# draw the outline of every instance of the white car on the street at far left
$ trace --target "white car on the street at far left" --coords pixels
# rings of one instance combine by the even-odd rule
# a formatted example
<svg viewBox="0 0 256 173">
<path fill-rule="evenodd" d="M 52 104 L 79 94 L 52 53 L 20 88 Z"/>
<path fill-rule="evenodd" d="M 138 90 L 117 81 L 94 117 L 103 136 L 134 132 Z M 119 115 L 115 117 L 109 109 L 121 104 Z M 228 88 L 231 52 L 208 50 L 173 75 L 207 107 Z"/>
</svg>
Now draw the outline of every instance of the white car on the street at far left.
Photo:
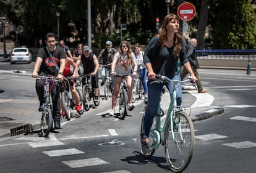
<svg viewBox="0 0 256 173">
<path fill-rule="evenodd" d="M 11 64 L 15 62 L 32 62 L 32 55 L 27 47 L 15 47 L 11 52 Z"/>
</svg>

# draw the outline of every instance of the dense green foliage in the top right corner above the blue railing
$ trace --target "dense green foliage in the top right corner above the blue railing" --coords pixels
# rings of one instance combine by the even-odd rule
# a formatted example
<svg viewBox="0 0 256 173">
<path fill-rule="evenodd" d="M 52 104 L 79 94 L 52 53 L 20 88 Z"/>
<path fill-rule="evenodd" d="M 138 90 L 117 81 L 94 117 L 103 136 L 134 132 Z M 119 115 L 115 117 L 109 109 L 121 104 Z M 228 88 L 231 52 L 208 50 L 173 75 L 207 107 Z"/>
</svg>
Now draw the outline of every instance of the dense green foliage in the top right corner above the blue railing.
<svg viewBox="0 0 256 173">
<path fill-rule="evenodd" d="M 209 2 L 215 48 L 255 49 L 255 18 L 250 2 L 246 0 L 209 0 Z"/>
</svg>

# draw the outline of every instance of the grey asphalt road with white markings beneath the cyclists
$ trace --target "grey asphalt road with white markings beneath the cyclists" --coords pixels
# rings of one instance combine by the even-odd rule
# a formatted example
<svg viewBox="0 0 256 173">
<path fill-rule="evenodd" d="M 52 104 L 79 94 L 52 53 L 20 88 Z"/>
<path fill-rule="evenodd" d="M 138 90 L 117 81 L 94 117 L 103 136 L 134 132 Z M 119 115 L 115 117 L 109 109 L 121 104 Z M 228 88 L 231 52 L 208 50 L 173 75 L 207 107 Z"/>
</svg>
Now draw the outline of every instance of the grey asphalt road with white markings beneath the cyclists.
<svg viewBox="0 0 256 173">
<path fill-rule="evenodd" d="M 1 62 L 1 70 L 4 66 L 7 64 Z M 24 65 L 22 70 L 26 69 L 29 68 Z M 184 106 L 196 103 L 193 112 L 198 105 L 210 101 L 208 107 L 223 107 L 224 113 L 194 121 L 194 155 L 184 172 L 255 172 L 256 74 L 254 71 L 250 75 L 235 70 L 199 71 L 208 94 L 186 91 Z M 22 74 L 17 78 L 17 75 L 1 72 L 1 89 L 8 89 L 9 97 L 15 97 L 14 91 L 19 90 L 19 100 L 24 95 L 33 95 L 33 79 Z M 36 100 L 34 96 L 30 99 Z M 0 94 L 0 99 L 7 97 Z M 103 116 L 110 105 L 111 100 L 101 100 L 100 107 L 63 121 L 62 129 L 51 133 L 49 138 L 38 137 L 38 132 L 33 131 L 0 139 L 1 172 L 169 172 L 163 146 L 150 159 L 140 154 L 142 100 L 136 102 L 125 120 Z"/>
</svg>

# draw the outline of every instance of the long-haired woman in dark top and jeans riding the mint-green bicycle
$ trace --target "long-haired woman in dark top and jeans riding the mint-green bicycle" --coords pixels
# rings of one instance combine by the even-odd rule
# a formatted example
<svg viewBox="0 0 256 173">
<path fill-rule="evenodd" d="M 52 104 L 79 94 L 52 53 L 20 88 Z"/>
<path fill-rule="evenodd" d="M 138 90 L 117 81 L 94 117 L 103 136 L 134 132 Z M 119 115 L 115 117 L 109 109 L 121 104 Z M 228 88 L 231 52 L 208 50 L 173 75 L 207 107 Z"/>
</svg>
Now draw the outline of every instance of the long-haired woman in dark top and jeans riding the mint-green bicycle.
<svg viewBox="0 0 256 173">
<path fill-rule="evenodd" d="M 162 74 L 170 79 L 181 80 L 177 71 L 177 62 L 180 60 L 184 67 L 193 77 L 193 82 L 197 81 L 195 74 L 187 59 L 185 42 L 179 31 L 179 17 L 168 14 L 164 17 L 159 33 L 148 43 L 147 49 L 143 54 L 143 60 L 148 70 L 148 107 L 145 110 L 145 120 L 143 124 L 143 155 L 150 155 L 148 147 L 148 135 L 153 118 L 156 115 L 160 103 L 161 90 L 163 85 L 167 85 L 170 94 L 173 93 L 173 82 L 151 83 L 156 78 L 156 74 Z M 182 92 L 181 84 L 177 89 L 177 105 L 181 105 Z"/>
</svg>

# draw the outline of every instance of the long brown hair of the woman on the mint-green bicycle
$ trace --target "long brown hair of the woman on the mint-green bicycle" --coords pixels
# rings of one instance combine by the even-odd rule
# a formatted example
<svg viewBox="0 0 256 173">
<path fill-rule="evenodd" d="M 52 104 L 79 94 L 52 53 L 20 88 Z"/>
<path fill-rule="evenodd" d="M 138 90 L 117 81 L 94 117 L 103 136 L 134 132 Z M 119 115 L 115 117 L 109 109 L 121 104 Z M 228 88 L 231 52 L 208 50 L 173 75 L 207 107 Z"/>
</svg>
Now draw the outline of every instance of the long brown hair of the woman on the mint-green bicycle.
<svg viewBox="0 0 256 173">
<path fill-rule="evenodd" d="M 161 28 L 158 33 L 159 42 L 162 47 L 164 46 L 164 41 L 167 40 L 166 25 L 168 25 L 169 22 L 171 22 L 171 20 L 173 20 L 173 19 L 179 21 L 179 17 L 177 17 L 177 15 L 175 15 L 175 14 L 168 14 L 163 19 L 163 23 L 162 23 Z M 181 36 L 181 31 L 179 31 L 178 33 L 175 33 L 175 35 L 174 35 L 174 49 L 173 49 L 174 57 L 178 57 L 179 52 L 181 52 L 181 49 L 182 49 L 181 42 L 182 42 L 182 36 Z"/>
</svg>

